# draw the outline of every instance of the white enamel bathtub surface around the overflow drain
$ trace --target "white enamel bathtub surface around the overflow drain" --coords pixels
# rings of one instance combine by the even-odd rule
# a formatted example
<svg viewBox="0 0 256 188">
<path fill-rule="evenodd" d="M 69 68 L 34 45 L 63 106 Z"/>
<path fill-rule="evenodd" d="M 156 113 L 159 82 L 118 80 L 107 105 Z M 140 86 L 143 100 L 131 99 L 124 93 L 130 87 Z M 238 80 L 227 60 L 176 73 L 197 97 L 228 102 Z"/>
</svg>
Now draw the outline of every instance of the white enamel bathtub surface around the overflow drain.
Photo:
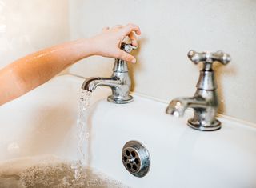
<svg viewBox="0 0 256 188">
<path fill-rule="evenodd" d="M 55 154 L 76 156 L 76 118 L 83 79 L 62 76 L 0 107 L 0 161 Z M 222 129 L 200 132 L 184 118 L 165 114 L 166 103 L 134 95 L 134 102 L 106 102 L 98 87 L 90 108 L 90 166 L 131 187 L 255 187 L 256 129 L 219 118 Z M 135 178 L 122 166 L 122 146 L 138 140 L 151 167 Z"/>
</svg>

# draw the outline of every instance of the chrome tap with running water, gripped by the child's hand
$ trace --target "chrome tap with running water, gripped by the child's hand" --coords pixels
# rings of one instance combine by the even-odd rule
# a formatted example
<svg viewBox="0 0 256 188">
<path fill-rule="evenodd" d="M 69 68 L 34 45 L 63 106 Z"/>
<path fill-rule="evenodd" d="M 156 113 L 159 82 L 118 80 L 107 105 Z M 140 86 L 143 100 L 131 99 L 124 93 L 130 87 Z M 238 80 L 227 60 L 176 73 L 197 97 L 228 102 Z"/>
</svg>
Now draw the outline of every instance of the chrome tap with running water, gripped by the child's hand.
<svg viewBox="0 0 256 188">
<path fill-rule="evenodd" d="M 130 53 L 131 50 L 136 49 L 130 44 L 122 43 L 121 49 Z M 109 86 L 112 90 L 107 100 L 117 104 L 125 104 L 133 101 L 130 93 L 130 76 L 128 73 L 127 62 L 122 59 L 115 58 L 113 74 L 110 78 L 89 78 L 82 84 L 82 89 L 93 92 L 98 86 Z"/>
</svg>

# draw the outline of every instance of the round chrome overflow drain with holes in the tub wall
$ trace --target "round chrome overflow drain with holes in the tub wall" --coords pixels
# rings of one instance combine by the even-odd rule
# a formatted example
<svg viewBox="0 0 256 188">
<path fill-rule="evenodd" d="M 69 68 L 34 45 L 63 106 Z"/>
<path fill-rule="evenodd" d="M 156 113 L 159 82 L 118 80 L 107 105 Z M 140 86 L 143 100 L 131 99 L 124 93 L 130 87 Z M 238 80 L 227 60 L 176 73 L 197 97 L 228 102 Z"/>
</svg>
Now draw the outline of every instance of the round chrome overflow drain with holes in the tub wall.
<svg viewBox="0 0 256 188">
<path fill-rule="evenodd" d="M 122 164 L 130 174 L 142 178 L 150 170 L 150 154 L 140 142 L 126 142 L 122 148 Z"/>
</svg>

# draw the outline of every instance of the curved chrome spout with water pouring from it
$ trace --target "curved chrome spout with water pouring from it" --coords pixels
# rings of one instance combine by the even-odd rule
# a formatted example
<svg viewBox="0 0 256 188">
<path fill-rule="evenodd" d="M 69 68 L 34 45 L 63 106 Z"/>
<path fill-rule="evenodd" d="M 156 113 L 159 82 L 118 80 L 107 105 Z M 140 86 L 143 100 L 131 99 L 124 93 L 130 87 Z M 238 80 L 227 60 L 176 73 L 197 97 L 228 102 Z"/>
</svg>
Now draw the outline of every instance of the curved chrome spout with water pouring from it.
<svg viewBox="0 0 256 188">
<path fill-rule="evenodd" d="M 96 87 L 98 86 L 118 86 L 121 84 L 121 81 L 118 78 L 102 78 L 102 77 L 95 77 L 86 79 L 85 82 L 82 84 L 82 89 L 93 92 Z"/>
</svg>

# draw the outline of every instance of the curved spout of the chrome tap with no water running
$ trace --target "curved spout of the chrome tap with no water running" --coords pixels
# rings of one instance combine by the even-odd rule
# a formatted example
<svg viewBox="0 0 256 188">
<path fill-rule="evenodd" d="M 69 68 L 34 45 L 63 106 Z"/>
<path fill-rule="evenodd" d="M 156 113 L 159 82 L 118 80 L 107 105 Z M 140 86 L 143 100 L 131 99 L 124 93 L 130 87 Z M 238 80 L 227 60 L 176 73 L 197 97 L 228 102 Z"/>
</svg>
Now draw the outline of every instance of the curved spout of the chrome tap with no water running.
<svg viewBox="0 0 256 188">
<path fill-rule="evenodd" d="M 176 117 L 182 117 L 187 108 L 206 109 L 208 106 L 206 99 L 202 97 L 193 98 L 175 98 L 166 108 L 166 114 L 171 114 Z"/>
</svg>

